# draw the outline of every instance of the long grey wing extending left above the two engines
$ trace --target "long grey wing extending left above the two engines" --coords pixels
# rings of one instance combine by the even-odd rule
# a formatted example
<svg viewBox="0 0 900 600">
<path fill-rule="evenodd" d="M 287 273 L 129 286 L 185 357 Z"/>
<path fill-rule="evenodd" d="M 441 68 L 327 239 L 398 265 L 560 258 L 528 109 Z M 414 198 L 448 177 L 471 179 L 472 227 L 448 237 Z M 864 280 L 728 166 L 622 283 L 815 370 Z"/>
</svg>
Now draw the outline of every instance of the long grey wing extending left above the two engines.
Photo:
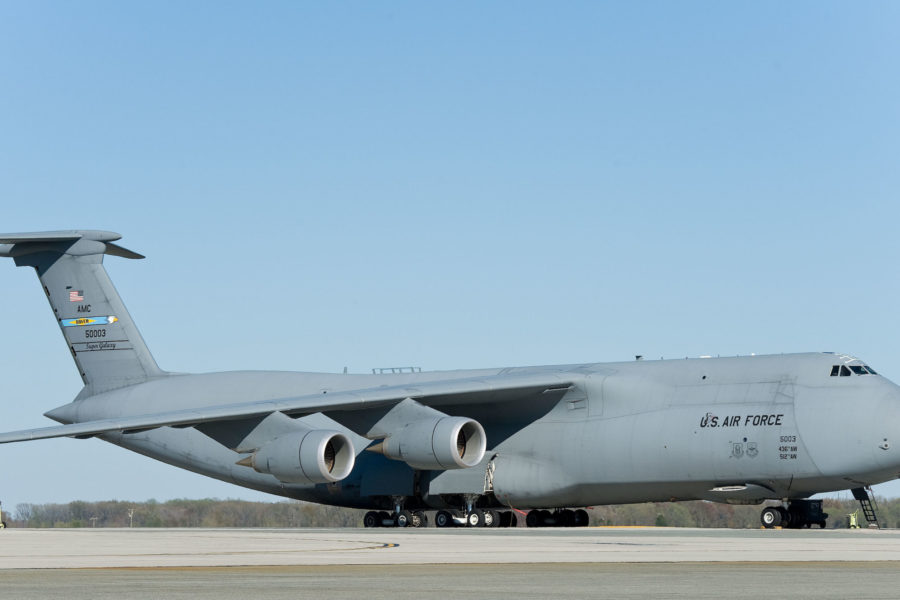
<svg viewBox="0 0 900 600">
<path fill-rule="evenodd" d="M 56 425 L 0 433 L 0 444 L 40 440 L 55 437 L 92 437 L 103 433 L 135 433 L 157 427 L 191 427 L 213 421 L 227 421 L 266 416 L 282 412 L 302 416 L 317 412 L 356 411 L 395 404 L 412 398 L 429 406 L 441 404 L 477 404 L 486 397 L 502 392 L 562 393 L 571 387 L 562 373 L 502 374 L 467 379 L 428 381 L 416 384 L 384 386 L 328 394 L 309 394 L 281 398 L 211 406 L 179 411 L 85 421 L 70 425 Z"/>
</svg>

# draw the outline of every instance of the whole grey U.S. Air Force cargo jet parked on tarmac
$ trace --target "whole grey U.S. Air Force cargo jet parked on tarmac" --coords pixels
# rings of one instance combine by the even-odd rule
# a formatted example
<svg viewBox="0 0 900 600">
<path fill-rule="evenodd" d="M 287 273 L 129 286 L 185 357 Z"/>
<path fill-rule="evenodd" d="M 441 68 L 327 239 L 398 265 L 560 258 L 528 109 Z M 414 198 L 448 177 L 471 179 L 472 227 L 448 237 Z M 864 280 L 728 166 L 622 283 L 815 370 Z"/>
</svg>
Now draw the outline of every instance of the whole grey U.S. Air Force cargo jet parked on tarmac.
<svg viewBox="0 0 900 600">
<path fill-rule="evenodd" d="M 279 496 L 368 508 L 364 524 L 586 525 L 582 507 L 760 504 L 825 526 L 818 492 L 900 476 L 900 387 L 832 353 L 352 375 L 161 370 L 103 267 L 105 231 L 0 235 L 34 267 L 84 388 L 61 425 Z M 853 418 L 849 418 L 850 415 Z M 516 510 L 512 510 L 516 509 Z M 519 514 L 522 514 L 521 512 Z"/>
</svg>

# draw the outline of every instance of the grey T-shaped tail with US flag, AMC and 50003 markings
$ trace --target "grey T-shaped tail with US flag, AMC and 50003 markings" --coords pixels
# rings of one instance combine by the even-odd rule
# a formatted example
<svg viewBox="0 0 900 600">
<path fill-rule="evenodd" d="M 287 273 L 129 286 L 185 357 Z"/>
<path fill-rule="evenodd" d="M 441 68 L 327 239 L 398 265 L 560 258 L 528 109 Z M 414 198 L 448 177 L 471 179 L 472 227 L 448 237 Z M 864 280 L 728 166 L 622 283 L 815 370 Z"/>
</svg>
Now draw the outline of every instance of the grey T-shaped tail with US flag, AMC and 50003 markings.
<svg viewBox="0 0 900 600">
<path fill-rule="evenodd" d="M 92 393 L 158 377 L 160 370 L 103 268 L 103 255 L 144 258 L 109 231 L 0 234 L 0 256 L 34 267 L 84 384 Z"/>
</svg>

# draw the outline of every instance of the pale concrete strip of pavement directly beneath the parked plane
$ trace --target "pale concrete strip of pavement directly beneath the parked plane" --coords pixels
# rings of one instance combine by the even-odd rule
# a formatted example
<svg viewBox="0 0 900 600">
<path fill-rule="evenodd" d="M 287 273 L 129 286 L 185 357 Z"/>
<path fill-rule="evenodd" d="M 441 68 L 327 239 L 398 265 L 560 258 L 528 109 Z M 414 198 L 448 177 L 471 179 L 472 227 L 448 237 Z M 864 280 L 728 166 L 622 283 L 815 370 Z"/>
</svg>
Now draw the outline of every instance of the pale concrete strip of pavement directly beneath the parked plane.
<svg viewBox="0 0 900 600">
<path fill-rule="evenodd" d="M 900 531 L 7 529 L 3 569 L 448 563 L 900 561 Z"/>
</svg>

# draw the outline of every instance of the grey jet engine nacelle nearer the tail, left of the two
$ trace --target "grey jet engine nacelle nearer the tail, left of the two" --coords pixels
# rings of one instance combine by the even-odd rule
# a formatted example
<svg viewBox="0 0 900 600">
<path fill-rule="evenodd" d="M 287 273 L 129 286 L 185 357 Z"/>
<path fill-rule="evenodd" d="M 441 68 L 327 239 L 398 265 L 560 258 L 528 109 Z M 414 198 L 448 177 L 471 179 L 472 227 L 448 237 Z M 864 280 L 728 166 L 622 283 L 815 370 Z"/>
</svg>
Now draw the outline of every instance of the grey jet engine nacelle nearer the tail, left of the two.
<svg viewBox="0 0 900 600">
<path fill-rule="evenodd" d="M 250 456 L 249 466 L 284 483 L 331 483 L 349 475 L 355 461 L 346 435 L 310 429 L 275 438 Z"/>
</svg>

